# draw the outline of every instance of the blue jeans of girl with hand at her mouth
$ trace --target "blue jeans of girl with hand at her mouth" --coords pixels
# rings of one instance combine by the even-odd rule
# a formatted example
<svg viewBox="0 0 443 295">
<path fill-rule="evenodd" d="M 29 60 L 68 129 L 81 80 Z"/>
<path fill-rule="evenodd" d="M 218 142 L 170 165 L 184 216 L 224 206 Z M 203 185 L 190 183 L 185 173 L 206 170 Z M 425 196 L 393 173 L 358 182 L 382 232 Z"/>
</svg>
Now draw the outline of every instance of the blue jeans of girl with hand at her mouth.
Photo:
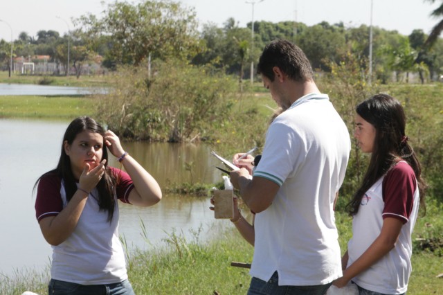
<svg viewBox="0 0 443 295">
<path fill-rule="evenodd" d="M 129 280 L 108 285 L 80 285 L 53 280 L 49 282 L 48 294 L 53 295 L 135 295 Z"/>
</svg>

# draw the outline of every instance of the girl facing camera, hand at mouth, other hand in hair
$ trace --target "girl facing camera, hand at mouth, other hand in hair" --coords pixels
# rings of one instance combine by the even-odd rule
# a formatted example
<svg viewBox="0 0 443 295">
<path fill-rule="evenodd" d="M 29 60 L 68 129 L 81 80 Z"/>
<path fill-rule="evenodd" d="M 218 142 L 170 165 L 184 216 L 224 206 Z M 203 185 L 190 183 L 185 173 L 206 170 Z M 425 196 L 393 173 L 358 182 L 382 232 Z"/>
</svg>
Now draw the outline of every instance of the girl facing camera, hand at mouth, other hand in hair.
<svg viewBox="0 0 443 295">
<path fill-rule="evenodd" d="M 108 166 L 107 149 L 126 172 Z M 161 189 L 118 136 L 92 118 L 76 118 L 64 134 L 57 168 L 35 186 L 36 217 L 53 247 L 48 294 L 134 294 L 118 239 L 117 200 L 152 206 Z"/>
</svg>

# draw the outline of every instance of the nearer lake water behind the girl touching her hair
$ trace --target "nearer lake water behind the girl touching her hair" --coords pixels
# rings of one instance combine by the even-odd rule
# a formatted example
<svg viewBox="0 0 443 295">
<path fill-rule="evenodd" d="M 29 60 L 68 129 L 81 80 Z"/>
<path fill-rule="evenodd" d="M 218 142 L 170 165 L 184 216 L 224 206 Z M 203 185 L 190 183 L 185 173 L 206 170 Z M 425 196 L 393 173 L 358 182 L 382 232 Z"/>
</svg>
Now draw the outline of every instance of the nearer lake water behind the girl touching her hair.
<svg viewBox="0 0 443 295">
<path fill-rule="evenodd" d="M 57 165 L 68 124 L 0 119 L 0 275 L 44 269 L 49 264 L 52 250 L 35 219 L 32 190 L 36 179 Z M 162 187 L 182 181 L 221 181 L 220 172 L 214 168 L 217 160 L 206 145 L 123 143 L 123 147 Z M 185 163 L 192 166 L 192 179 Z M 109 164 L 118 167 L 115 159 L 110 159 Z M 199 238 L 210 239 L 229 222 L 215 220 L 209 206 L 206 197 L 165 194 L 159 204 L 148 208 L 120 203 L 120 235 L 130 249 L 161 246 L 174 231 L 192 240 L 191 230 L 201 228 Z M 149 242 L 141 235 L 141 221 Z"/>
</svg>

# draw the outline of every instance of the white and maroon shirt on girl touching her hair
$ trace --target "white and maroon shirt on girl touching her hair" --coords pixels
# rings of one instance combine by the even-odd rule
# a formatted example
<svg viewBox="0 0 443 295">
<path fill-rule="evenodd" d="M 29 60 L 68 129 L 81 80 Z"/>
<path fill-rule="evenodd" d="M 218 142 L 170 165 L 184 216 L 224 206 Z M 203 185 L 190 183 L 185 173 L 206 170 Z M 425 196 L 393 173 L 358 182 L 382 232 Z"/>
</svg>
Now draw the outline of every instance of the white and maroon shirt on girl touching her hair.
<svg viewBox="0 0 443 295">
<path fill-rule="evenodd" d="M 134 184 L 129 175 L 108 167 L 118 175 L 115 202 L 129 203 Z M 107 211 L 100 211 L 95 188 L 89 194 L 75 231 L 62 244 L 53 246 L 51 278 L 81 285 L 119 283 L 127 279 L 125 254 L 118 238 L 118 206 L 108 222 Z M 64 183 L 57 175 L 40 179 L 37 188 L 35 211 L 37 220 L 55 216 L 67 205 Z"/>
</svg>

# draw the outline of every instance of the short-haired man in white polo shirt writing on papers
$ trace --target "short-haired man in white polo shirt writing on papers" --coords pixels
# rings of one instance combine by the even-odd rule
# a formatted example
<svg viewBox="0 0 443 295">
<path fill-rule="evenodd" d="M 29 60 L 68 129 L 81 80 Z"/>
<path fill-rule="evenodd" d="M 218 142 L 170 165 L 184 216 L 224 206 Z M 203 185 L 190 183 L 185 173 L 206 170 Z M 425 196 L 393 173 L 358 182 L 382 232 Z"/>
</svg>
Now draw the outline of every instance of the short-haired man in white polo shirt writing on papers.
<svg viewBox="0 0 443 295">
<path fill-rule="evenodd" d="M 245 168 L 230 173 L 256 213 L 248 294 L 325 294 L 342 274 L 334 202 L 350 135 L 298 46 L 285 40 L 267 45 L 257 73 L 287 110 L 269 126 L 253 178 Z"/>
</svg>

